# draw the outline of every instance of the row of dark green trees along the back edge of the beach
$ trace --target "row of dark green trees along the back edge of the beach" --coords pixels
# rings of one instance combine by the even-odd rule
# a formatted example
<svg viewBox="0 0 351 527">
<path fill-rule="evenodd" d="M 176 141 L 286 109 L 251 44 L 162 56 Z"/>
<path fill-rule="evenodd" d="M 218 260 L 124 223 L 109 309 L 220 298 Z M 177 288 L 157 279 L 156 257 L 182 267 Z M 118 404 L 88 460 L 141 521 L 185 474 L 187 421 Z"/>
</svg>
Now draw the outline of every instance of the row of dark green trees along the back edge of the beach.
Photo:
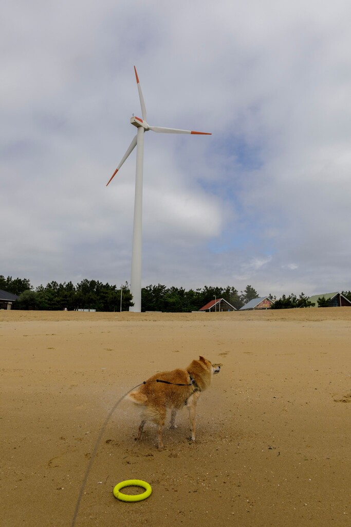
<svg viewBox="0 0 351 527">
<path fill-rule="evenodd" d="M 74 310 L 96 309 L 96 311 L 119 311 L 121 309 L 121 287 L 103 284 L 98 280 L 84 279 L 77 285 L 71 281 L 58 284 L 49 282 L 46 286 L 35 289 L 26 278 L 5 278 L 0 275 L 0 289 L 19 296 L 14 309 L 42 309 L 42 310 Z M 351 301 L 351 291 L 342 291 Z M 158 284 L 149 285 L 142 289 L 142 311 L 163 311 L 169 313 L 189 313 L 198 311 L 215 298 L 224 298 L 236 309 L 244 306 L 250 300 L 259 297 L 252 286 L 247 285 L 244 291 L 238 291 L 233 286 L 218 287 L 204 286 L 199 289 L 184 289 L 183 287 L 166 287 Z M 273 309 L 292 309 L 312 306 L 308 296 L 302 292 L 282 295 L 280 298 L 269 297 L 274 300 Z M 122 286 L 122 311 L 127 311 L 133 305 L 133 297 L 126 282 Z M 325 299 L 318 299 L 318 307 L 327 305 Z M 317 306 L 316 306 L 317 307 Z"/>
</svg>

